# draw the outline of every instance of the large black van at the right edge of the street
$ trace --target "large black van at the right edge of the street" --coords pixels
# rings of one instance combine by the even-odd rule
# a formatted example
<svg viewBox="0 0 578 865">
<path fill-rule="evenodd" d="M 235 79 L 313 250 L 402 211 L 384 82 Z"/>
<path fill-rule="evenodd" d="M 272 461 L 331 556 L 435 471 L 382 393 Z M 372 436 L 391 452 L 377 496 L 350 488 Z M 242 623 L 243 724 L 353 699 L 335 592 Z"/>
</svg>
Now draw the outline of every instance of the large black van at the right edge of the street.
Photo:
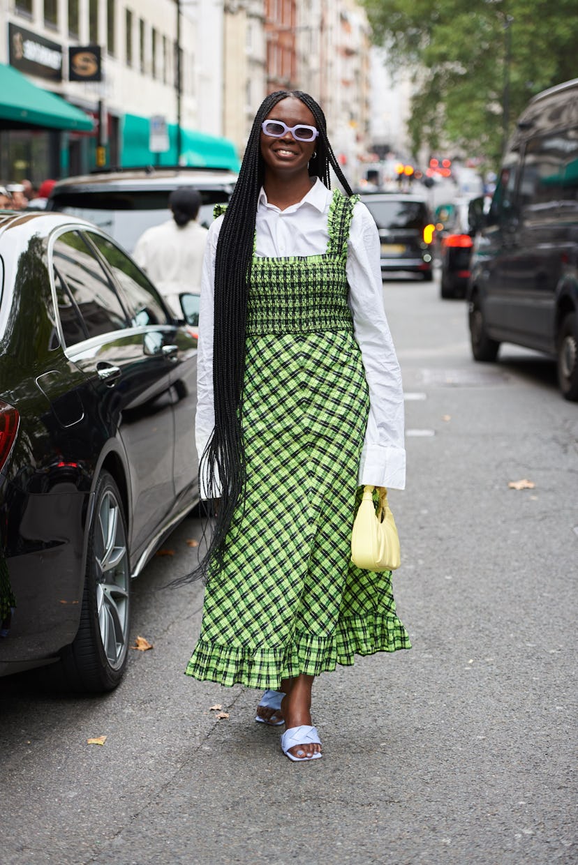
<svg viewBox="0 0 578 865">
<path fill-rule="evenodd" d="M 500 343 L 556 356 L 567 400 L 578 400 L 578 79 L 530 101 L 517 122 L 468 285 L 472 354 Z"/>
</svg>

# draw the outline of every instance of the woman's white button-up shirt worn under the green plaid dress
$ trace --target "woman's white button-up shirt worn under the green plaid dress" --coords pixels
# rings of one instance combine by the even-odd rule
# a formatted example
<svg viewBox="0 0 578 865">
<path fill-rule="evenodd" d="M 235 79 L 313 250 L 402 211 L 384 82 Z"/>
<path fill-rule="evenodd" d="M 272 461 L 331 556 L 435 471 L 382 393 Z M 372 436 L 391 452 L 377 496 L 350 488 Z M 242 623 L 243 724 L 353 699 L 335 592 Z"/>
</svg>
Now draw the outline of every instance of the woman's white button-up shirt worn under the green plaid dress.
<svg viewBox="0 0 578 865">
<path fill-rule="evenodd" d="M 332 193 L 319 179 L 299 203 L 279 210 L 261 189 L 255 221 L 256 254 L 260 257 L 325 253 L 327 216 Z M 209 227 L 201 282 L 197 369 L 196 447 L 199 458 L 215 426 L 213 394 L 213 322 L 215 251 L 222 217 Z M 383 309 L 380 240 L 368 208 L 357 202 L 350 224 L 347 254 L 348 303 L 356 341 L 361 349 L 369 387 L 369 417 L 357 482 L 395 490 L 405 488 L 401 371 Z M 201 495 L 206 483 L 201 477 Z"/>
</svg>

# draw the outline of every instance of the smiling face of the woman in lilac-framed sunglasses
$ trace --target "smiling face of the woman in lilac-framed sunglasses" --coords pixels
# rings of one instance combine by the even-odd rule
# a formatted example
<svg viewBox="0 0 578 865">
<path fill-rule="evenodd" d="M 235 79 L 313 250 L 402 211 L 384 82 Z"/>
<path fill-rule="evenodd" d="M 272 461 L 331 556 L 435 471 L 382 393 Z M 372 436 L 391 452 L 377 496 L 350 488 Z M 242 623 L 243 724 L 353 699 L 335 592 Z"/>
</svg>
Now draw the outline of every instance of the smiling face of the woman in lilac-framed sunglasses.
<svg viewBox="0 0 578 865">
<path fill-rule="evenodd" d="M 287 96 L 273 106 L 267 114 L 267 120 L 281 120 L 286 126 L 316 126 L 316 121 L 309 108 L 295 96 Z M 315 140 L 297 141 L 291 132 L 286 132 L 282 138 L 272 138 L 261 131 L 261 156 L 265 162 L 265 171 L 277 176 L 295 176 L 304 173 L 309 176 L 307 165 L 315 151 Z"/>
</svg>

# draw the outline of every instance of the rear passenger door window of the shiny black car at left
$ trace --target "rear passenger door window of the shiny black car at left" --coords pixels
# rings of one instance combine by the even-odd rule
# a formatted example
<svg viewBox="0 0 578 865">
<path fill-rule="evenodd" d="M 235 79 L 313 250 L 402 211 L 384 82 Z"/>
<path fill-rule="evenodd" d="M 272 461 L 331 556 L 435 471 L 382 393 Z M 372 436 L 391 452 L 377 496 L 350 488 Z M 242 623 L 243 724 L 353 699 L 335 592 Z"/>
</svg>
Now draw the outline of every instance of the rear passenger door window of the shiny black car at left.
<svg viewBox="0 0 578 865">
<path fill-rule="evenodd" d="M 100 261 L 78 232 L 61 234 L 55 241 L 52 260 L 62 330 L 63 316 L 67 323 L 68 338 L 74 339 L 71 305 L 80 315 L 87 336 L 100 336 L 128 326 L 114 287 Z M 80 335 L 80 330 L 76 330 L 76 333 Z"/>
</svg>

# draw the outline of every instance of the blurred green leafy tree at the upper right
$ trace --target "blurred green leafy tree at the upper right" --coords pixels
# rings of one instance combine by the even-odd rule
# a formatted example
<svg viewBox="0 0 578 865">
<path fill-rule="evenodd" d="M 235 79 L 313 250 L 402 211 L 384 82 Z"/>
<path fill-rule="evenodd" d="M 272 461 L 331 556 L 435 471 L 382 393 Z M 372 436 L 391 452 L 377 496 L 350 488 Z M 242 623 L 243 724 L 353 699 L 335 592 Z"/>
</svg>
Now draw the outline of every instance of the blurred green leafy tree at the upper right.
<svg viewBox="0 0 578 865">
<path fill-rule="evenodd" d="M 576 75 L 578 0 L 361 3 L 389 67 L 414 69 L 416 152 L 447 141 L 495 165 L 528 99 Z"/>
</svg>

